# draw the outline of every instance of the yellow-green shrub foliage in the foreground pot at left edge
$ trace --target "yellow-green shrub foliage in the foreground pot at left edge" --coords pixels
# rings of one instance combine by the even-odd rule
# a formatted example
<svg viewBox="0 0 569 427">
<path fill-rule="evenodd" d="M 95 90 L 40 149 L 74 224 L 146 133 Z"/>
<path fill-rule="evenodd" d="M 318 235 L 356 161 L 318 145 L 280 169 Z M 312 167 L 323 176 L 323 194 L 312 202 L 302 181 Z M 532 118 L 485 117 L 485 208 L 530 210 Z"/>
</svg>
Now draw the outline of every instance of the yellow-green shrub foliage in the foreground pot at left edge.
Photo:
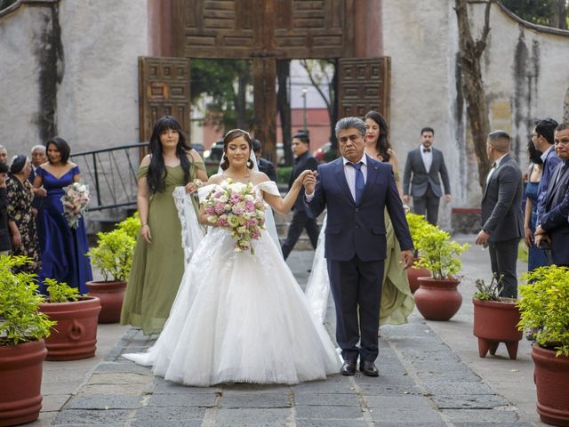
<svg viewBox="0 0 569 427">
<path fill-rule="evenodd" d="M 56 324 L 38 310 L 44 297 L 36 293 L 36 275 L 12 272 L 28 262 L 25 256 L 0 256 L 0 345 L 40 340 Z"/>
</svg>

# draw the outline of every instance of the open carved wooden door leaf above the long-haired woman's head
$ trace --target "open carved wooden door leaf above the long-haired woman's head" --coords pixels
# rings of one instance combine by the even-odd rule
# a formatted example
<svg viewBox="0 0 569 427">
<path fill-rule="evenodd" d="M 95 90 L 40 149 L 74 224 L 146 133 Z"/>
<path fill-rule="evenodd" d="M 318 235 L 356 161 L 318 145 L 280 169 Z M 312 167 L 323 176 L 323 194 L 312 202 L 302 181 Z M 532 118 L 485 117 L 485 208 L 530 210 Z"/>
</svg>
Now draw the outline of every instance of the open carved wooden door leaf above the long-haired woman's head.
<svg viewBox="0 0 569 427">
<path fill-rule="evenodd" d="M 189 142 L 189 60 L 139 57 L 140 141 L 148 141 L 156 119 L 176 117 Z"/>
</svg>

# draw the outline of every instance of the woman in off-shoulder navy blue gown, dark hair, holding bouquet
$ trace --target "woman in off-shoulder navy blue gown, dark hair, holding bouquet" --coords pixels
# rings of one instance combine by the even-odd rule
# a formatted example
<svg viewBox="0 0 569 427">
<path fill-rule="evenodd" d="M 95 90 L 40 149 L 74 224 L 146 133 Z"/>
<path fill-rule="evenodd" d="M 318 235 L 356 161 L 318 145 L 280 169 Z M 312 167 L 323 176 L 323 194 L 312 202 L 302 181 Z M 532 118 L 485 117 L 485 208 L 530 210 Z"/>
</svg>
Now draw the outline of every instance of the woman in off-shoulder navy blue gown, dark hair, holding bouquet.
<svg viewBox="0 0 569 427">
<path fill-rule="evenodd" d="M 43 185 L 47 191 L 37 217 L 39 228 L 43 231 L 40 233 L 42 268 L 39 272 L 39 291 L 46 294 L 44 278 L 55 278 L 85 294 L 85 282 L 92 280 L 92 270 L 91 262 L 85 255 L 89 246 L 84 219 L 79 219 L 76 229 L 69 227 L 60 200 L 64 187 L 81 180 L 79 168 L 68 161 L 71 149 L 62 138 L 56 136 L 47 141 L 46 151 L 47 163 L 36 169 L 34 181 L 35 188 Z"/>
</svg>

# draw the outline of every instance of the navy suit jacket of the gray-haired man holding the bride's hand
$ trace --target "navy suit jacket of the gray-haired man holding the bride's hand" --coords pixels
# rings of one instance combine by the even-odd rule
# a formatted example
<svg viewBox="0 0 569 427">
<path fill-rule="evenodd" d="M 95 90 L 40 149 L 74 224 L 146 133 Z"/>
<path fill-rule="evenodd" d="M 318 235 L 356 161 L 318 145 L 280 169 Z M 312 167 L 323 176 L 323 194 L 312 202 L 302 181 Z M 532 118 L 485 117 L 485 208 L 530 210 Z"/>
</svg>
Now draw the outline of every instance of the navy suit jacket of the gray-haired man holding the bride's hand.
<svg viewBox="0 0 569 427">
<path fill-rule="evenodd" d="M 314 197 L 304 199 L 306 212 L 317 218 L 327 207 L 325 257 L 349 261 L 357 255 L 362 261 L 381 261 L 386 257 L 384 213 L 387 207 L 401 249 L 413 250 L 403 204 L 399 198 L 391 165 L 367 157 L 367 180 L 359 205 L 349 191 L 343 158 L 318 165 Z"/>
</svg>

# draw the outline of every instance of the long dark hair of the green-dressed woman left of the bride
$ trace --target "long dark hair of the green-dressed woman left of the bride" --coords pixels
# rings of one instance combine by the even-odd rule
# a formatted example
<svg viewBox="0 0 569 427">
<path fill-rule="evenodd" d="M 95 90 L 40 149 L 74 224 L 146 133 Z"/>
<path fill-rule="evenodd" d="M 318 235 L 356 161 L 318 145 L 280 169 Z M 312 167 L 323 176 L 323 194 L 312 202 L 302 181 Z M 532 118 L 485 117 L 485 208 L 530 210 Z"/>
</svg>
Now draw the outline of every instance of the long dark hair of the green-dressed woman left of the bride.
<svg viewBox="0 0 569 427">
<path fill-rule="evenodd" d="M 182 133 L 181 125 L 178 120 L 171 116 L 159 118 L 154 125 L 152 135 L 150 136 L 150 165 L 148 165 L 147 182 L 150 191 L 153 193 L 164 191 L 166 180 L 166 166 L 164 165 L 164 157 L 162 156 L 162 143 L 160 142 L 160 134 L 172 129 L 180 135 L 178 145 L 176 145 L 176 157 L 180 158 L 180 166 L 184 171 L 184 182 L 189 180 L 189 167 L 191 162 L 188 159 L 188 150 L 191 147 L 186 142 L 186 137 Z"/>
</svg>

